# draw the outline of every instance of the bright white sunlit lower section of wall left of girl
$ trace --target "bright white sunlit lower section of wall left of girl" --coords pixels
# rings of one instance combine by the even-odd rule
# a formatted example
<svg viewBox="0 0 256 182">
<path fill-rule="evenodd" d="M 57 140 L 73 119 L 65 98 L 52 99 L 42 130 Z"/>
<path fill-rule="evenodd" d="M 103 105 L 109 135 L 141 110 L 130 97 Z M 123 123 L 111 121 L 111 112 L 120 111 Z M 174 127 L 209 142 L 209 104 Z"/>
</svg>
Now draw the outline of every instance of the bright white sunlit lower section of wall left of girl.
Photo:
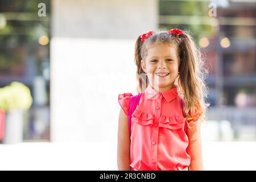
<svg viewBox="0 0 256 182">
<path fill-rule="evenodd" d="M 51 140 L 115 139 L 118 93 L 135 93 L 133 41 L 53 38 L 52 44 Z"/>
</svg>

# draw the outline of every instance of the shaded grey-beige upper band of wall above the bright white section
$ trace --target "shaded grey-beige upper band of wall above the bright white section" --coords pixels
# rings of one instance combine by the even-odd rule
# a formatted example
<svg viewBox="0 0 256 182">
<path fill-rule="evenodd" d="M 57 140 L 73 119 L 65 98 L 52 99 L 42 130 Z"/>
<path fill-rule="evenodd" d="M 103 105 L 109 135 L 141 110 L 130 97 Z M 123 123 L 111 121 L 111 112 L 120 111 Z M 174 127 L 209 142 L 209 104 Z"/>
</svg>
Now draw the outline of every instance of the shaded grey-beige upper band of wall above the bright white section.
<svg viewBox="0 0 256 182">
<path fill-rule="evenodd" d="M 53 0 L 52 35 L 134 39 L 158 27 L 157 0 Z"/>
</svg>

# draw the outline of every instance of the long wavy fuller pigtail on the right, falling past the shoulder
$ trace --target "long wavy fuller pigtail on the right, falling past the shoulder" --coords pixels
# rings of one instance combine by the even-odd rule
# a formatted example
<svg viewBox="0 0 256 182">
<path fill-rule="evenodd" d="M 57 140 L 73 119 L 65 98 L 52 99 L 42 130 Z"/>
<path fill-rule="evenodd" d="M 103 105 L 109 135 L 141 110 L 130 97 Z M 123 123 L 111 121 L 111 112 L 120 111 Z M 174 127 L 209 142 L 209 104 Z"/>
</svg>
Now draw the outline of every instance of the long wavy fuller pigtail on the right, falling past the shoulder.
<svg viewBox="0 0 256 182">
<path fill-rule="evenodd" d="M 203 68 L 204 60 L 200 51 L 196 48 L 191 36 L 181 36 L 179 44 L 181 95 L 185 102 L 184 113 L 187 117 L 188 127 L 192 122 L 205 120 L 205 110 L 209 104 L 205 104 L 208 88 L 204 82 L 207 69 Z"/>
</svg>

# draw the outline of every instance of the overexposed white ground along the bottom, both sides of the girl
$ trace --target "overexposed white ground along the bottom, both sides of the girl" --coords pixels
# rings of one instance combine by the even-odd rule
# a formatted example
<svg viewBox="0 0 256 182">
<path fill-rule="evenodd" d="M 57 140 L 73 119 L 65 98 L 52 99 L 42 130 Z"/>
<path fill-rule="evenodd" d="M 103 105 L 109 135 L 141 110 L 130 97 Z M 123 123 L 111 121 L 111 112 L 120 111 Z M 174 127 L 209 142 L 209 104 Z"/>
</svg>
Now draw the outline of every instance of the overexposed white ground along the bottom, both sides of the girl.
<svg viewBox="0 0 256 182">
<path fill-rule="evenodd" d="M 256 170 L 256 142 L 205 142 L 205 170 Z M 0 169 L 117 170 L 113 143 L 0 144 Z"/>
</svg>

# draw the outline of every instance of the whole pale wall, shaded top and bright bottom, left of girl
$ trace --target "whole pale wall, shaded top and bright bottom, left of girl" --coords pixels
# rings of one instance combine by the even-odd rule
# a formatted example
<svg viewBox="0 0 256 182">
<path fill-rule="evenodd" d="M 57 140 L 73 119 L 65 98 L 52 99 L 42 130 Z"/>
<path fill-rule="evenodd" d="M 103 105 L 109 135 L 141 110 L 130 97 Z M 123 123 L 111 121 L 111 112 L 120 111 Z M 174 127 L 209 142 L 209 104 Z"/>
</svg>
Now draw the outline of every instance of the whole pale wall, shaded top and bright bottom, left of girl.
<svg viewBox="0 0 256 182">
<path fill-rule="evenodd" d="M 52 1 L 51 141 L 116 142 L 118 94 L 135 94 L 135 40 L 156 29 L 156 4 Z"/>
</svg>

